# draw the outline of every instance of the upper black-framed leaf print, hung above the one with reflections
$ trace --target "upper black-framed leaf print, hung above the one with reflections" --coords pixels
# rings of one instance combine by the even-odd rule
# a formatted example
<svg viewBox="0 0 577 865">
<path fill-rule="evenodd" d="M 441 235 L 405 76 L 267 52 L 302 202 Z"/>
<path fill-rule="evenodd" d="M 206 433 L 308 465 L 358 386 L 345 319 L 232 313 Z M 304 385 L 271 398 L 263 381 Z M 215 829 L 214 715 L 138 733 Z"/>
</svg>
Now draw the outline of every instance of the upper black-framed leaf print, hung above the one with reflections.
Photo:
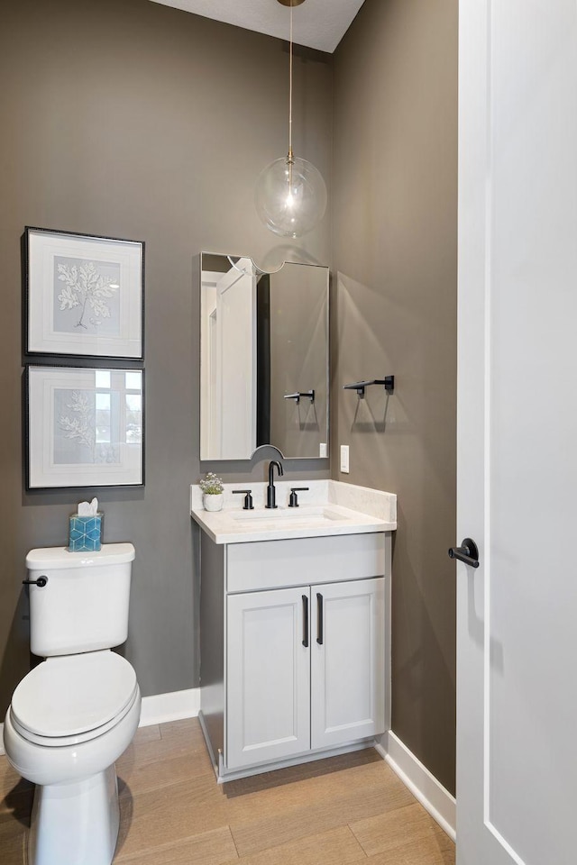
<svg viewBox="0 0 577 865">
<path fill-rule="evenodd" d="M 142 360 L 144 243 L 25 230 L 26 351 Z"/>
</svg>

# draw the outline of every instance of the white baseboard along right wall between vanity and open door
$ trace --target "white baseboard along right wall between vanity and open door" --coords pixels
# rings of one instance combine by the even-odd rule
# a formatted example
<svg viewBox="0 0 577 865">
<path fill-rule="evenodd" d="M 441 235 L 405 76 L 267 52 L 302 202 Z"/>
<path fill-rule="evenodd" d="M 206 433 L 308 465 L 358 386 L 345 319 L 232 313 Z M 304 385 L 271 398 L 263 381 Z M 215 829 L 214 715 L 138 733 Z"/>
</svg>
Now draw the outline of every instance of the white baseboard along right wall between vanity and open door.
<svg viewBox="0 0 577 865">
<path fill-rule="evenodd" d="M 407 745 L 395 733 L 389 731 L 377 745 L 377 751 L 389 763 L 403 784 L 418 799 L 421 805 L 441 826 L 450 838 L 455 840 L 455 798 L 445 790 L 434 775 L 420 760 L 417 760 Z"/>
</svg>

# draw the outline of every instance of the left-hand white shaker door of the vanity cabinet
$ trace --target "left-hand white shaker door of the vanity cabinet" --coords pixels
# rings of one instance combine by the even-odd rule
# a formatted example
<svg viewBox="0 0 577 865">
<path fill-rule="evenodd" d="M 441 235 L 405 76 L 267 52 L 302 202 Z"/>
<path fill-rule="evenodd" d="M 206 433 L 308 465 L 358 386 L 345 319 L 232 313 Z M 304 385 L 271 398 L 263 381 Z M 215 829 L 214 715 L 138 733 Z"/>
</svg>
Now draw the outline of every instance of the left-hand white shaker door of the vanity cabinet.
<svg viewBox="0 0 577 865">
<path fill-rule="evenodd" d="M 310 589 L 227 598 L 227 769 L 310 748 Z"/>
</svg>

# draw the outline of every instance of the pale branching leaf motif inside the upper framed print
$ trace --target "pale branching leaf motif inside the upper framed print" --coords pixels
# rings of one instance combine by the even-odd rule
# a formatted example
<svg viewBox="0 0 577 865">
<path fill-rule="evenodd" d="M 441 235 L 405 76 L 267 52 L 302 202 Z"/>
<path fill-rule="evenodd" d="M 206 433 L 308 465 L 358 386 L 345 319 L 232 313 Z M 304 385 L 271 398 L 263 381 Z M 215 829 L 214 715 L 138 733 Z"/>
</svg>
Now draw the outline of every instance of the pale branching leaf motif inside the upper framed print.
<svg viewBox="0 0 577 865">
<path fill-rule="evenodd" d="M 85 318 L 90 310 L 94 317 L 89 323 L 97 327 L 105 318 L 110 318 L 111 310 L 107 300 L 114 296 L 118 285 L 107 275 L 100 272 L 94 261 L 82 261 L 79 266 L 73 264 L 57 264 L 58 279 L 64 283 L 58 300 L 61 310 L 72 310 L 79 307 L 78 321 L 75 327 L 87 330 Z"/>
</svg>

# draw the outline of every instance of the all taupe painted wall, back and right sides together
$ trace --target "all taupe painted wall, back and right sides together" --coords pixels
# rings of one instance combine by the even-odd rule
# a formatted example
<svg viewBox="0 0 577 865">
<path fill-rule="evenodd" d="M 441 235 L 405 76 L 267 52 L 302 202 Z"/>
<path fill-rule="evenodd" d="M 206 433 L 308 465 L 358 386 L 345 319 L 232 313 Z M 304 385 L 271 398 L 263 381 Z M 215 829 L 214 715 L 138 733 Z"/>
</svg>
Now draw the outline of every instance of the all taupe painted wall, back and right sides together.
<svg viewBox="0 0 577 865">
<path fill-rule="evenodd" d="M 319 229 L 286 243 L 252 205 L 286 149 L 286 46 L 146 0 L 14 0 L 1 23 L 0 712 L 30 665 L 25 553 L 64 544 L 95 493 L 23 489 L 24 225 L 146 242 L 146 486 L 96 490 L 105 540 L 137 549 L 125 653 L 145 695 L 197 685 L 189 483 L 262 480 L 273 455 L 199 464 L 197 253 L 310 260 L 339 274 L 333 476 L 398 493 L 393 729 L 453 789 L 457 0 L 366 0 L 334 59 L 298 52 L 295 150 L 333 196 Z M 388 405 L 341 390 L 388 373 Z"/>
</svg>

